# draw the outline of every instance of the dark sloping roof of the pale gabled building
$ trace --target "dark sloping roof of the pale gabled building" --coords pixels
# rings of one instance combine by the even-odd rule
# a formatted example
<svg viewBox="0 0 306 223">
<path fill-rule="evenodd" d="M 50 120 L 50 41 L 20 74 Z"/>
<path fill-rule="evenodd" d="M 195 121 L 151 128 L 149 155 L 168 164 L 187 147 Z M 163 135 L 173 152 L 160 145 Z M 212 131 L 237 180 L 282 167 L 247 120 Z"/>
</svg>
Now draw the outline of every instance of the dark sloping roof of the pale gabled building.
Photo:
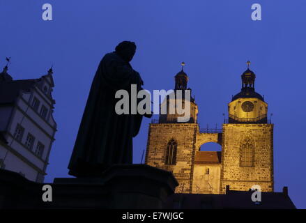
<svg viewBox="0 0 306 223">
<path fill-rule="evenodd" d="M 36 79 L 22 79 L 11 82 L 0 82 L 0 104 L 15 102 L 20 91 L 29 91 Z"/>
</svg>

